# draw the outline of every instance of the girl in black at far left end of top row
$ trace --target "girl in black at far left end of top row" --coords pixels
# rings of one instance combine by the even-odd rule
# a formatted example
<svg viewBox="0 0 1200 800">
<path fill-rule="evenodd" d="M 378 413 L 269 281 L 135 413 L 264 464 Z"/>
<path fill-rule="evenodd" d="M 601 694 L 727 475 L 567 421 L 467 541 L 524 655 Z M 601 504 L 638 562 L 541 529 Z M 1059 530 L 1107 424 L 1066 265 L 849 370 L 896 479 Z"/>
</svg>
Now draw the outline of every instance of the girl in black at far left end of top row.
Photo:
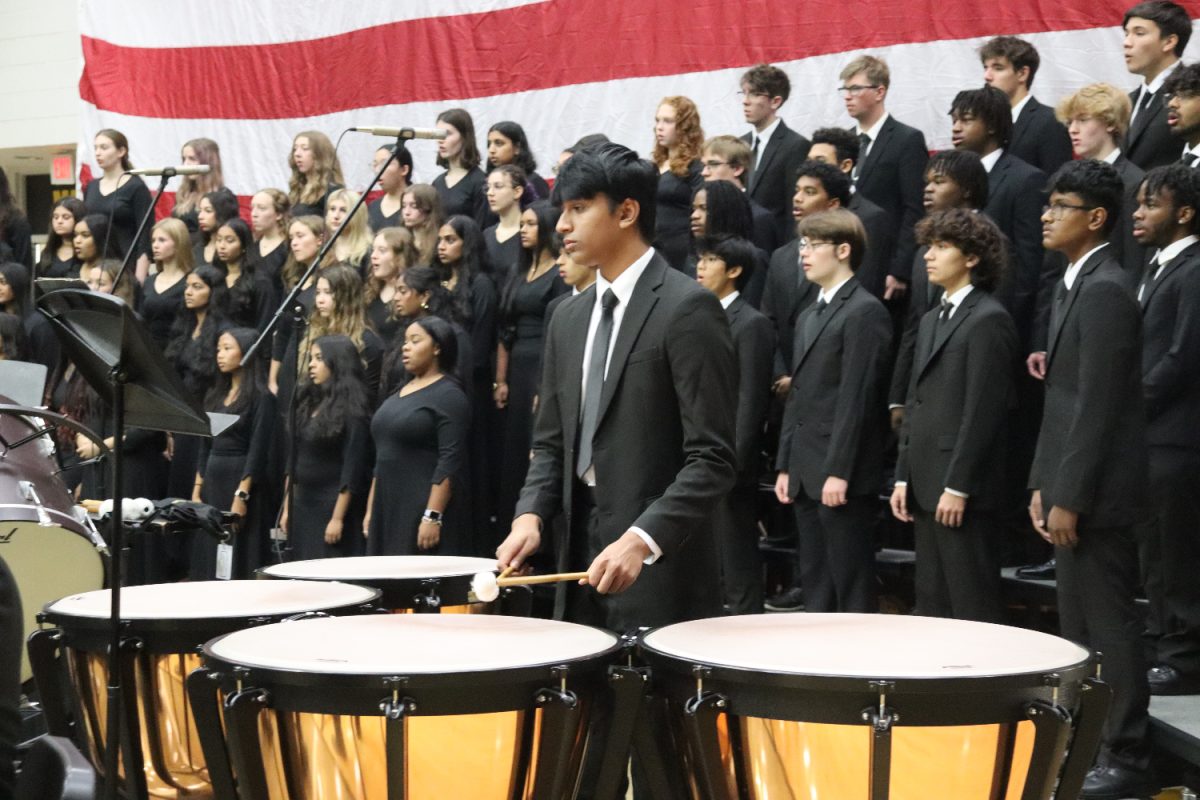
<svg viewBox="0 0 1200 800">
<path fill-rule="evenodd" d="M 113 252 L 124 257 L 133 251 L 132 269 L 140 283 L 150 272 L 150 234 L 144 230 L 138 241 L 133 241 L 133 235 L 150 207 L 150 190 L 140 178 L 125 174 L 133 169 L 133 164 L 130 162 L 130 143 L 124 133 L 104 128 L 96 134 L 92 151 L 103 174 L 88 184 L 83 203 L 88 206 L 89 215 L 98 213 L 112 219 L 109 234 Z M 104 245 L 101 243 L 100 247 Z"/>
</svg>

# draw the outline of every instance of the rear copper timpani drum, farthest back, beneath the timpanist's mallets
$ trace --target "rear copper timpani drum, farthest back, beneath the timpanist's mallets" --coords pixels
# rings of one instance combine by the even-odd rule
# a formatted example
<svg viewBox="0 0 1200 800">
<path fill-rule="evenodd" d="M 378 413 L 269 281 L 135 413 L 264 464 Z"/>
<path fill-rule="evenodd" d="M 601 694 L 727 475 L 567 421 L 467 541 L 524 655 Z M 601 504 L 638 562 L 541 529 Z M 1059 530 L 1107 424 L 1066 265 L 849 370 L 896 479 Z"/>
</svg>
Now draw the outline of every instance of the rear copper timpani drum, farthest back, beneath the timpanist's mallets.
<svg viewBox="0 0 1200 800">
<path fill-rule="evenodd" d="M 463 555 L 358 555 L 288 561 L 263 567 L 262 578 L 342 581 L 383 593 L 380 606 L 401 613 L 509 614 L 528 616 L 528 587 L 508 587 L 499 600 L 480 602 L 470 591 L 478 572 L 496 571 L 496 559 Z"/>
</svg>

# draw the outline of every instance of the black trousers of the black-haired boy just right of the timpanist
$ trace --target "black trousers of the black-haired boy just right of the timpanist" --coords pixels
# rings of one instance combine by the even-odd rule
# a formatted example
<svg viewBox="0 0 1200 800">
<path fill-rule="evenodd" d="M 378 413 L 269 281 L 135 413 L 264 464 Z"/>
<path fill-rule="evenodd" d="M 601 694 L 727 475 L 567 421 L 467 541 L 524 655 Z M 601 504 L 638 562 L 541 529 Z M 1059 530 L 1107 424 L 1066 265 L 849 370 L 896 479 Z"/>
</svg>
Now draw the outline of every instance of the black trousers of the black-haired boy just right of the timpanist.
<svg viewBox="0 0 1200 800">
<path fill-rule="evenodd" d="M 732 614 L 762 613 L 762 557 L 758 554 L 758 489 L 736 486 L 716 506 L 721 587 Z"/>
</svg>

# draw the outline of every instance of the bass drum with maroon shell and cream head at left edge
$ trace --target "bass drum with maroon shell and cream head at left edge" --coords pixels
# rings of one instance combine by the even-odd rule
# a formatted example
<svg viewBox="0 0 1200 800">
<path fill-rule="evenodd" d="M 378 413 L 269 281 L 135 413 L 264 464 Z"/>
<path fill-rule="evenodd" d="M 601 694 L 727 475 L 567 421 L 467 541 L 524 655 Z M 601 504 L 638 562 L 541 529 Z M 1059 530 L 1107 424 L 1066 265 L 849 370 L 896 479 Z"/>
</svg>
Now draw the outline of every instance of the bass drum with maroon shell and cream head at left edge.
<svg viewBox="0 0 1200 800">
<path fill-rule="evenodd" d="M 11 407 L 2 395 L 0 404 Z M 0 438 L 8 443 L 0 444 L 0 558 L 17 579 L 25 638 L 37 630 L 37 613 L 47 603 L 104 585 L 98 537 L 92 539 L 83 510 L 58 476 L 52 433 L 11 446 L 38 431 L 46 425 L 36 416 L 0 414 Z M 20 681 L 32 676 L 23 652 Z"/>
</svg>

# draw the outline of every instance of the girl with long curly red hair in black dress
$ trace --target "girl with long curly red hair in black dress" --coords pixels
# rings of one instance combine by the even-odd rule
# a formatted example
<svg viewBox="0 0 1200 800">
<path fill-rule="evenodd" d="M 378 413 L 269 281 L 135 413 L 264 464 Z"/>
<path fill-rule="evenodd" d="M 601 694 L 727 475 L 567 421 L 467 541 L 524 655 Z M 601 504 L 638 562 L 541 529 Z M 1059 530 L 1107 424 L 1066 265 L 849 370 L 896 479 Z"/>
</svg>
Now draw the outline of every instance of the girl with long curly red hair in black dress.
<svg viewBox="0 0 1200 800">
<path fill-rule="evenodd" d="M 664 97 L 654 114 L 654 155 L 659 168 L 654 248 L 683 271 L 688 261 L 691 197 L 703 182 L 700 154 L 704 131 L 700 110 L 686 97 Z"/>
</svg>

